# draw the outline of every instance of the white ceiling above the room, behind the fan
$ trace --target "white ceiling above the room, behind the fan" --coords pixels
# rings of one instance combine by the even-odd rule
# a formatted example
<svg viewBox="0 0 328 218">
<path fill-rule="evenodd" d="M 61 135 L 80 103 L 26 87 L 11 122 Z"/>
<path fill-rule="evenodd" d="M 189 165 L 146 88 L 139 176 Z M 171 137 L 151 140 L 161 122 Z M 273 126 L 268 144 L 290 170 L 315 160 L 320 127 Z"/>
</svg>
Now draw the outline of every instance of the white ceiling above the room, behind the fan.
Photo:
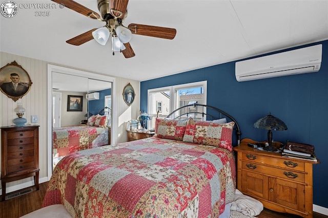
<svg viewBox="0 0 328 218">
<path fill-rule="evenodd" d="M 25 0 L 20 3 L 53 3 Z M 96 0 L 76 2 L 98 12 Z M 50 16 L 35 16 L 49 11 Z M 133 35 L 126 59 L 111 43 L 65 41 L 105 25 L 68 8 L 0 15 L 0 51 L 105 75 L 144 81 L 328 39 L 328 1 L 130 0 L 130 23 L 175 28 L 173 40 Z"/>
</svg>

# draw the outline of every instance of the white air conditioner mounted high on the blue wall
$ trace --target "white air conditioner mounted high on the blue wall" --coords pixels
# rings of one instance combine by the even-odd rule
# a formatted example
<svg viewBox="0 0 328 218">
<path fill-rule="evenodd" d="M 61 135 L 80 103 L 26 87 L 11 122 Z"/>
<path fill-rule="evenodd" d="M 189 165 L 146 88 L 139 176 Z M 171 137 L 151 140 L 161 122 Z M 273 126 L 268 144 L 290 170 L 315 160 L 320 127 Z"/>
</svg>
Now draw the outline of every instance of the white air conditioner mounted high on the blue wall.
<svg viewBox="0 0 328 218">
<path fill-rule="evenodd" d="M 293 74 L 318 72 L 322 45 L 310 46 L 273 55 L 236 62 L 239 82 Z"/>
</svg>

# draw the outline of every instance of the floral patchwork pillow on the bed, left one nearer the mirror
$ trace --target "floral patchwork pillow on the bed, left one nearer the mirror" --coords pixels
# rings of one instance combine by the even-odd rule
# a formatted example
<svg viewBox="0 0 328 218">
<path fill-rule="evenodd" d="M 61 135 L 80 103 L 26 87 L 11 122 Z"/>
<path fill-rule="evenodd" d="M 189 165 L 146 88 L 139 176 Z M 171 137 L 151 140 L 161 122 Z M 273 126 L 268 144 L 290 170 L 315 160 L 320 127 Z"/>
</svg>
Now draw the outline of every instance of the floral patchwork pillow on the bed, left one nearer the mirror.
<svg viewBox="0 0 328 218">
<path fill-rule="evenodd" d="M 156 118 L 155 136 L 163 139 L 174 139 L 182 141 L 189 119 L 171 120 Z"/>
</svg>

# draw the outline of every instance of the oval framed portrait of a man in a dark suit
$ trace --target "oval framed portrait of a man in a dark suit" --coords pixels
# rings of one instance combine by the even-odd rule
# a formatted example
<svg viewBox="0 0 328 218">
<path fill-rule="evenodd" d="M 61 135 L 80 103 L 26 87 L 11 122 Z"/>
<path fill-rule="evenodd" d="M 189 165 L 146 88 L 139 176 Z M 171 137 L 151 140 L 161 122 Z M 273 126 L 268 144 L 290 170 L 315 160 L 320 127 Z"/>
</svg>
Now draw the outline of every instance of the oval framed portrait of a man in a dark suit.
<svg viewBox="0 0 328 218">
<path fill-rule="evenodd" d="M 0 69 L 0 90 L 17 101 L 31 89 L 32 81 L 29 74 L 16 61 L 8 63 Z"/>
</svg>

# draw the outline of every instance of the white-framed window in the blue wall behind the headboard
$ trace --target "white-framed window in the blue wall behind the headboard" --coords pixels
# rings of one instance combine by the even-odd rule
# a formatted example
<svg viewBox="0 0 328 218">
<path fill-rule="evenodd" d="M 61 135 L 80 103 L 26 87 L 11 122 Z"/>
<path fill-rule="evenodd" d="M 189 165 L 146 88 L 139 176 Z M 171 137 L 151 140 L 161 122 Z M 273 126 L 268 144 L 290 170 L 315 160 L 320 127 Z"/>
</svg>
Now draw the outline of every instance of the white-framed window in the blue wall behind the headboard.
<svg viewBox="0 0 328 218">
<path fill-rule="evenodd" d="M 158 117 L 164 118 L 181 106 L 196 102 L 206 104 L 206 92 L 207 81 L 148 90 L 148 114 L 151 117 L 148 128 L 155 128 L 158 111 Z"/>
</svg>

